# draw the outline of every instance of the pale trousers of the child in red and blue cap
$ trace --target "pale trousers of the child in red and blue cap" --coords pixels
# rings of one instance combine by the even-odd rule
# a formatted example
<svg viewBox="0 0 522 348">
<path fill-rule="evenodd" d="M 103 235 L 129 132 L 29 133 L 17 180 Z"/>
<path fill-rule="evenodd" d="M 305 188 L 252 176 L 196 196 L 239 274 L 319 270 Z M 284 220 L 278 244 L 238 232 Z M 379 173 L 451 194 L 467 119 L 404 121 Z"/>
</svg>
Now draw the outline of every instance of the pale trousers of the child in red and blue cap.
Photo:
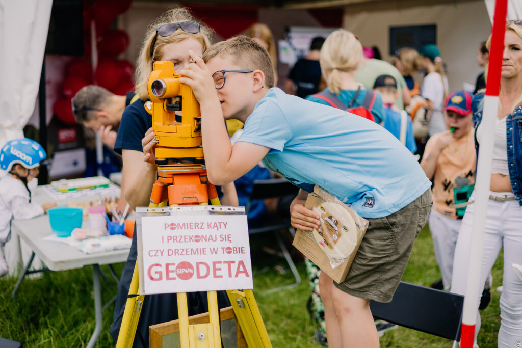
<svg viewBox="0 0 522 348">
<path fill-rule="evenodd" d="M 450 218 L 432 209 L 428 222 L 430 223 L 430 232 L 433 239 L 433 249 L 435 249 L 438 269 L 440 269 L 442 273 L 444 290 L 449 291 L 452 286 L 455 245 L 457 244 L 457 237 L 462 220 Z"/>
</svg>

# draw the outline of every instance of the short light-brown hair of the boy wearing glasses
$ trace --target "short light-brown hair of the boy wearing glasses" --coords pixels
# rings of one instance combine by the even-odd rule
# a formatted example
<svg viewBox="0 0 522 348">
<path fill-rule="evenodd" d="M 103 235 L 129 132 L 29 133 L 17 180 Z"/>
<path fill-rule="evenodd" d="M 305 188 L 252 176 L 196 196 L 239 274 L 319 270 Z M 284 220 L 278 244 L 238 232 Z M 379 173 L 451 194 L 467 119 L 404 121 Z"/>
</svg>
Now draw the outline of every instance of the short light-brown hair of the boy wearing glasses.
<svg viewBox="0 0 522 348">
<path fill-rule="evenodd" d="M 210 46 L 203 54 L 205 63 L 213 57 L 230 55 L 234 64 L 242 69 L 261 70 L 265 74 L 265 85 L 274 87 L 274 67 L 265 48 L 252 38 L 239 35 Z"/>
</svg>

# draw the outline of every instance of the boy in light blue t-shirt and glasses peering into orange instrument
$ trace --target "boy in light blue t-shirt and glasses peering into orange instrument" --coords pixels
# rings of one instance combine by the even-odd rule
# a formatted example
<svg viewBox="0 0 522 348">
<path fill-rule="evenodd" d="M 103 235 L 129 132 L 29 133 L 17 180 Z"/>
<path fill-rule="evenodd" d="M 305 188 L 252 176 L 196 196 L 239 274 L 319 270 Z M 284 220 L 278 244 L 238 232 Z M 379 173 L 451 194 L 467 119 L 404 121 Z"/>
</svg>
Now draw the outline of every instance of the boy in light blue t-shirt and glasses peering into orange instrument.
<svg viewBox="0 0 522 348">
<path fill-rule="evenodd" d="M 377 347 L 369 301 L 391 301 L 431 208 L 430 181 L 381 126 L 272 88 L 270 56 L 254 40 L 213 45 L 204 55 L 207 64 L 190 54 L 194 63 L 180 71 L 181 82 L 200 103 L 210 182 L 229 183 L 262 160 L 302 188 L 292 202 L 294 227 L 319 226 L 318 214 L 304 208 L 314 185 L 369 220 L 346 280 L 337 284 L 322 272 L 319 286 L 328 342 Z M 233 146 L 223 117 L 245 123 Z"/>
</svg>

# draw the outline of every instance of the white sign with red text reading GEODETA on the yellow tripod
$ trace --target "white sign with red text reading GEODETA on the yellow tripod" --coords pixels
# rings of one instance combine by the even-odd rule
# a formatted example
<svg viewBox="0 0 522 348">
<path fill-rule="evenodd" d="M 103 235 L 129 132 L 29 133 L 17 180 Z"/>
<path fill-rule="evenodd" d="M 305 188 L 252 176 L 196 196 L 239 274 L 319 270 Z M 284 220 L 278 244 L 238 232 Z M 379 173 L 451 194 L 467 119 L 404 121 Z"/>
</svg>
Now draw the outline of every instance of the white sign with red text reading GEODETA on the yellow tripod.
<svg viewBox="0 0 522 348">
<path fill-rule="evenodd" d="M 246 215 L 141 219 L 140 292 L 252 289 Z"/>
</svg>

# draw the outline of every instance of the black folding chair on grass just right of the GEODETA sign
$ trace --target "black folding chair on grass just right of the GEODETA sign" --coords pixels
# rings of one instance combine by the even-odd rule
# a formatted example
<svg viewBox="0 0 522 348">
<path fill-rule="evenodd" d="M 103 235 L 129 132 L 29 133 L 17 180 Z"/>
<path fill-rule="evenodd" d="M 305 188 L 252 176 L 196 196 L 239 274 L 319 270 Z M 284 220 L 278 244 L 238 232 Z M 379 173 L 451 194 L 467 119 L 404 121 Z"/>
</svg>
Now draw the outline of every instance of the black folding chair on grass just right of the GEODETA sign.
<svg viewBox="0 0 522 348">
<path fill-rule="evenodd" d="M 299 188 L 295 185 L 286 181 L 286 179 L 266 179 L 256 180 L 252 193 L 250 194 L 250 200 L 246 207 L 246 211 L 250 211 L 252 200 L 254 199 L 267 199 L 267 198 L 280 198 L 288 195 L 297 195 Z M 299 286 L 301 284 L 301 277 L 295 268 L 295 265 L 288 253 L 287 247 L 284 245 L 281 237 L 279 236 L 278 230 L 287 229 L 292 236 L 295 235 L 295 230 L 290 224 L 290 212 L 283 217 L 277 215 L 268 214 L 262 219 L 248 220 L 248 233 L 263 233 L 272 232 L 276 237 L 276 241 L 281 248 L 284 258 L 287 260 L 288 266 L 292 271 L 295 278 L 295 282 L 290 285 L 276 287 L 275 289 L 268 290 L 266 293 L 274 293 L 281 290 L 292 289 L 292 287 Z"/>
</svg>

